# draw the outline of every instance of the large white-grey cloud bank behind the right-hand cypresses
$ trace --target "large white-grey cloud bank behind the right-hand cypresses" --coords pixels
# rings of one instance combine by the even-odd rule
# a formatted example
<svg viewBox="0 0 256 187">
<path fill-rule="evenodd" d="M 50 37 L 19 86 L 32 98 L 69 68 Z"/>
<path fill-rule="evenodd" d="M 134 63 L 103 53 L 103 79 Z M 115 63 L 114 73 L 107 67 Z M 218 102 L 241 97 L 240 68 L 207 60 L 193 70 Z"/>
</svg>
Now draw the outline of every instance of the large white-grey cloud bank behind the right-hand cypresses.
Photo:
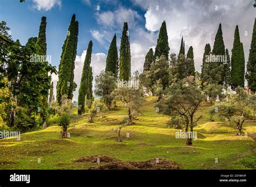
<svg viewBox="0 0 256 187">
<path fill-rule="evenodd" d="M 161 23 L 166 21 L 170 53 L 179 52 L 181 37 L 184 36 L 185 50 L 187 52 L 188 48 L 193 46 L 195 66 L 199 71 L 201 70 L 205 44 L 210 43 L 211 48 L 213 47 L 219 23 L 222 25 L 225 47 L 228 48 L 230 55 L 235 25 L 239 25 L 240 39 L 244 44 L 245 60 L 248 59 L 254 22 L 254 8 L 250 1 L 184 0 L 156 2 L 133 0 L 133 4 L 146 10 L 144 15 L 145 28 L 148 31 L 158 31 Z M 156 9 L 156 6 L 159 10 Z M 247 36 L 244 34 L 245 31 L 248 32 Z"/>
</svg>

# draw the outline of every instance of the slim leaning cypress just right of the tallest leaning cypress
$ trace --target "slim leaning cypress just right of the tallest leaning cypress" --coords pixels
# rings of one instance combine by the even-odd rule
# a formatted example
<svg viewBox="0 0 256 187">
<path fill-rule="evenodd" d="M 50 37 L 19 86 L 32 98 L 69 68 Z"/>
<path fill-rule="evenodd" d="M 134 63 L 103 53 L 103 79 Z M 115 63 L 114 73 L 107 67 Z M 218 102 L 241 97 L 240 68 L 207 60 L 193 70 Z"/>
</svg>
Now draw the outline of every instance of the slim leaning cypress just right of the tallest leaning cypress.
<svg viewBox="0 0 256 187">
<path fill-rule="evenodd" d="M 84 113 L 85 109 L 85 97 L 90 97 L 90 88 L 89 88 L 89 82 L 91 75 L 91 54 L 92 54 L 92 41 L 89 42 L 88 48 L 86 51 L 86 56 L 84 60 L 84 67 L 83 67 L 83 73 L 81 77 L 79 92 L 78 92 L 78 114 L 81 115 Z"/>
</svg>

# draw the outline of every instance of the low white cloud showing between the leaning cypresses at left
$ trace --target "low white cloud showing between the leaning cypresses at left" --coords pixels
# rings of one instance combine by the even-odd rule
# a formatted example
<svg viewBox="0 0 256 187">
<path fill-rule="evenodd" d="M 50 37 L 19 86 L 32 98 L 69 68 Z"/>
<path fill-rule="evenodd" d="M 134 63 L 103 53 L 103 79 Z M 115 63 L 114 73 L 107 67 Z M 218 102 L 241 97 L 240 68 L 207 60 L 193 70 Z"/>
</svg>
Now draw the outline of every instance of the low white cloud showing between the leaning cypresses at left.
<svg viewBox="0 0 256 187">
<path fill-rule="evenodd" d="M 75 60 L 75 70 L 74 70 L 74 81 L 77 84 L 76 91 L 73 92 L 73 100 L 78 100 L 78 90 L 81 82 L 83 67 L 84 67 L 84 60 L 85 60 L 86 50 L 83 51 L 83 53 L 79 56 L 76 56 Z M 106 66 L 106 54 L 104 53 L 92 53 L 91 56 L 91 67 L 92 67 L 92 74 L 93 74 L 93 90 L 94 90 L 94 80 L 96 75 L 100 73 L 100 71 L 105 70 Z M 52 81 L 53 81 L 53 94 L 56 98 L 56 85 L 58 81 L 58 75 L 53 74 L 52 75 Z"/>
</svg>

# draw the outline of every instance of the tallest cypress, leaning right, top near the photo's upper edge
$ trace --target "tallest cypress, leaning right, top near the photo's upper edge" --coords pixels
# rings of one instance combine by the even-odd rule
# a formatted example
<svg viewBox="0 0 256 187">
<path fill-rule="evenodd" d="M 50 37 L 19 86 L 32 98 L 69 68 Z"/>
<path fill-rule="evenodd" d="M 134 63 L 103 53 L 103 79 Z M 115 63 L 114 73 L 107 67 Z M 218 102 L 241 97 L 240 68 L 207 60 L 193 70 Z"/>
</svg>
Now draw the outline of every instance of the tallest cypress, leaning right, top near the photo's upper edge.
<svg viewBox="0 0 256 187">
<path fill-rule="evenodd" d="M 76 88 L 76 83 L 73 82 L 73 70 L 75 69 L 77 39 L 78 21 L 76 21 L 76 15 L 74 14 L 71 18 L 68 34 L 62 47 L 62 55 L 60 56 L 56 93 L 56 99 L 59 104 L 63 95 L 67 95 L 69 99 L 72 99 L 72 92 Z"/>
</svg>

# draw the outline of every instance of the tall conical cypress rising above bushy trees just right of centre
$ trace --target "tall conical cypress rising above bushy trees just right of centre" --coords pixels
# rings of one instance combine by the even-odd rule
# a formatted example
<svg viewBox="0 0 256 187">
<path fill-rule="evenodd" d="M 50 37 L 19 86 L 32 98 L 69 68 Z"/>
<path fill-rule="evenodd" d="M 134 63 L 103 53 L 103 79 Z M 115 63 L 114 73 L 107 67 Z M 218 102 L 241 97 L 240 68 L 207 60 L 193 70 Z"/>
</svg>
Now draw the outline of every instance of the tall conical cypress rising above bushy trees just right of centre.
<svg viewBox="0 0 256 187">
<path fill-rule="evenodd" d="M 157 46 L 156 50 L 154 51 L 154 60 L 160 59 L 161 55 L 164 55 L 166 60 L 169 59 L 169 43 L 168 43 L 168 35 L 167 35 L 167 29 L 166 29 L 166 23 L 163 21 L 160 30 L 159 35 L 157 39 Z"/>
</svg>

